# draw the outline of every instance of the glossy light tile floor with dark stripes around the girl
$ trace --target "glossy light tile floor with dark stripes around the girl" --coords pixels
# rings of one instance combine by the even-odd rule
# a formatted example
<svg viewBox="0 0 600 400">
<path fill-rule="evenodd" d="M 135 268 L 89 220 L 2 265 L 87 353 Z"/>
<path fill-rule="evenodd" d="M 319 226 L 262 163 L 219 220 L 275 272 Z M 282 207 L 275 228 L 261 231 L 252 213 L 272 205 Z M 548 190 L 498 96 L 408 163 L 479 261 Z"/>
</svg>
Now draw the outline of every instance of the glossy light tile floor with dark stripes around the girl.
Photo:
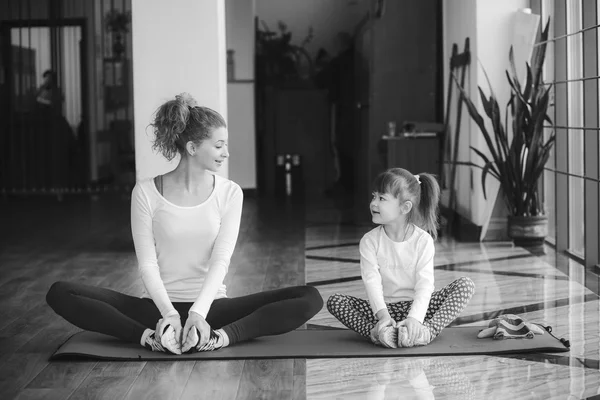
<svg viewBox="0 0 600 400">
<path fill-rule="evenodd" d="M 324 300 L 336 292 L 366 298 L 358 242 L 370 226 L 335 208 L 307 207 L 306 282 Z M 568 353 L 522 356 L 307 360 L 311 399 L 587 399 L 600 394 L 597 275 L 550 248 L 533 255 L 511 243 L 436 243 L 436 288 L 468 276 L 476 285 L 456 325 L 485 325 L 518 314 L 550 325 Z M 313 324 L 343 327 L 326 309 Z"/>
</svg>

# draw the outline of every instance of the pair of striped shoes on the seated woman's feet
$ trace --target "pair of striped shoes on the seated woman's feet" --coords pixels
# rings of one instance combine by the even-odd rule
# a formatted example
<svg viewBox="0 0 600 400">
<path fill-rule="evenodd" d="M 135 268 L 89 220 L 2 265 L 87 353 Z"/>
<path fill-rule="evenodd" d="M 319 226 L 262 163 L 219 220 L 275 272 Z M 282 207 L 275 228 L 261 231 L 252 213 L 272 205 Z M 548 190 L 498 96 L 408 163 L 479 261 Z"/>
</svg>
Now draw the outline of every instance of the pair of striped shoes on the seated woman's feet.
<svg viewBox="0 0 600 400">
<path fill-rule="evenodd" d="M 202 346 L 198 346 L 200 336 L 196 327 L 192 327 L 189 333 L 189 340 L 186 345 L 179 348 L 178 340 L 175 337 L 175 329 L 171 325 L 166 325 L 163 329 L 163 334 L 160 340 L 156 337 L 156 332 L 152 331 L 144 342 L 144 347 L 152 351 L 162 351 L 172 354 L 193 353 L 198 351 L 218 350 L 225 345 L 225 340 L 216 331 L 210 330 L 210 338 L 208 342 Z"/>
</svg>

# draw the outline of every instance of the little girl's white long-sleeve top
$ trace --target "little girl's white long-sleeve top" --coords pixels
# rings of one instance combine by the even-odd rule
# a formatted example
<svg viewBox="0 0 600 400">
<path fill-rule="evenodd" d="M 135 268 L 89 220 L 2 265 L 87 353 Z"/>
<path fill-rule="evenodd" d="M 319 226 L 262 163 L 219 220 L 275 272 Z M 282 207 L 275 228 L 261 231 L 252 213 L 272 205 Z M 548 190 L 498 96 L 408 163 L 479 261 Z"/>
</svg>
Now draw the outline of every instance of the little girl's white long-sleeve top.
<svg viewBox="0 0 600 400">
<path fill-rule="evenodd" d="M 434 291 L 433 238 L 415 226 L 403 242 L 394 242 L 383 226 L 367 232 L 360 241 L 360 269 L 373 312 L 386 302 L 413 300 L 409 317 L 423 322 Z"/>
</svg>

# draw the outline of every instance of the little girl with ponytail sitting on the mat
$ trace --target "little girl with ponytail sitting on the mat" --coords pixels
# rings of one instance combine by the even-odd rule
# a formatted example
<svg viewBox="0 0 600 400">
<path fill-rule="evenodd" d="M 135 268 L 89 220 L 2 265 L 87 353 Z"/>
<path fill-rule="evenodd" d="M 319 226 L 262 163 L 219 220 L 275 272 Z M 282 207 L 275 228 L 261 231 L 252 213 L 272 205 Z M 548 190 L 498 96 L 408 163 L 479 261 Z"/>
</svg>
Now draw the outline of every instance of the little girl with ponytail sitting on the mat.
<svg viewBox="0 0 600 400">
<path fill-rule="evenodd" d="M 430 174 L 392 168 L 375 180 L 371 200 L 379 226 L 360 241 L 368 301 L 334 294 L 327 309 L 348 328 L 385 347 L 427 345 L 465 308 L 475 285 L 459 278 L 434 292 L 438 183 Z"/>
</svg>

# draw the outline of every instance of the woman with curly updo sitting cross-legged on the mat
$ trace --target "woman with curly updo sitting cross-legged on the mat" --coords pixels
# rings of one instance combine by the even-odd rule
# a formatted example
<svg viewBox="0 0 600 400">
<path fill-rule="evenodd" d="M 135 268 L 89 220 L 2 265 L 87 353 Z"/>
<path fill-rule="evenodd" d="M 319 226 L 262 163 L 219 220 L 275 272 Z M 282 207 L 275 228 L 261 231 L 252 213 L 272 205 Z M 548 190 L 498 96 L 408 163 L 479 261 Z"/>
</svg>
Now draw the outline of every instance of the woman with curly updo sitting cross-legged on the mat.
<svg viewBox="0 0 600 400">
<path fill-rule="evenodd" d="M 175 354 L 289 332 L 319 312 L 323 300 L 308 286 L 227 298 L 223 279 L 243 193 L 215 174 L 229 157 L 225 121 L 183 94 L 157 110 L 152 126 L 154 147 L 181 159 L 133 189 L 131 230 L 144 297 L 57 282 L 46 297 L 54 311 L 81 329 Z"/>
</svg>

